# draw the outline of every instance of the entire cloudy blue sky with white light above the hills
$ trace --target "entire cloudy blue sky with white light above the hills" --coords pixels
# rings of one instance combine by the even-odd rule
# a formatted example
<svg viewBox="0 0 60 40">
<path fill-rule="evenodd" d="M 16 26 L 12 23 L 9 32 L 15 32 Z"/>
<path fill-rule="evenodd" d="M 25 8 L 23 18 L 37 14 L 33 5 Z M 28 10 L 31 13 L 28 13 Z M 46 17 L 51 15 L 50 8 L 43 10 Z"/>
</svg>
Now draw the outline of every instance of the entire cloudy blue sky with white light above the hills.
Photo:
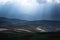
<svg viewBox="0 0 60 40">
<path fill-rule="evenodd" d="M 60 0 L 0 0 L 0 17 L 60 21 Z"/>
</svg>

